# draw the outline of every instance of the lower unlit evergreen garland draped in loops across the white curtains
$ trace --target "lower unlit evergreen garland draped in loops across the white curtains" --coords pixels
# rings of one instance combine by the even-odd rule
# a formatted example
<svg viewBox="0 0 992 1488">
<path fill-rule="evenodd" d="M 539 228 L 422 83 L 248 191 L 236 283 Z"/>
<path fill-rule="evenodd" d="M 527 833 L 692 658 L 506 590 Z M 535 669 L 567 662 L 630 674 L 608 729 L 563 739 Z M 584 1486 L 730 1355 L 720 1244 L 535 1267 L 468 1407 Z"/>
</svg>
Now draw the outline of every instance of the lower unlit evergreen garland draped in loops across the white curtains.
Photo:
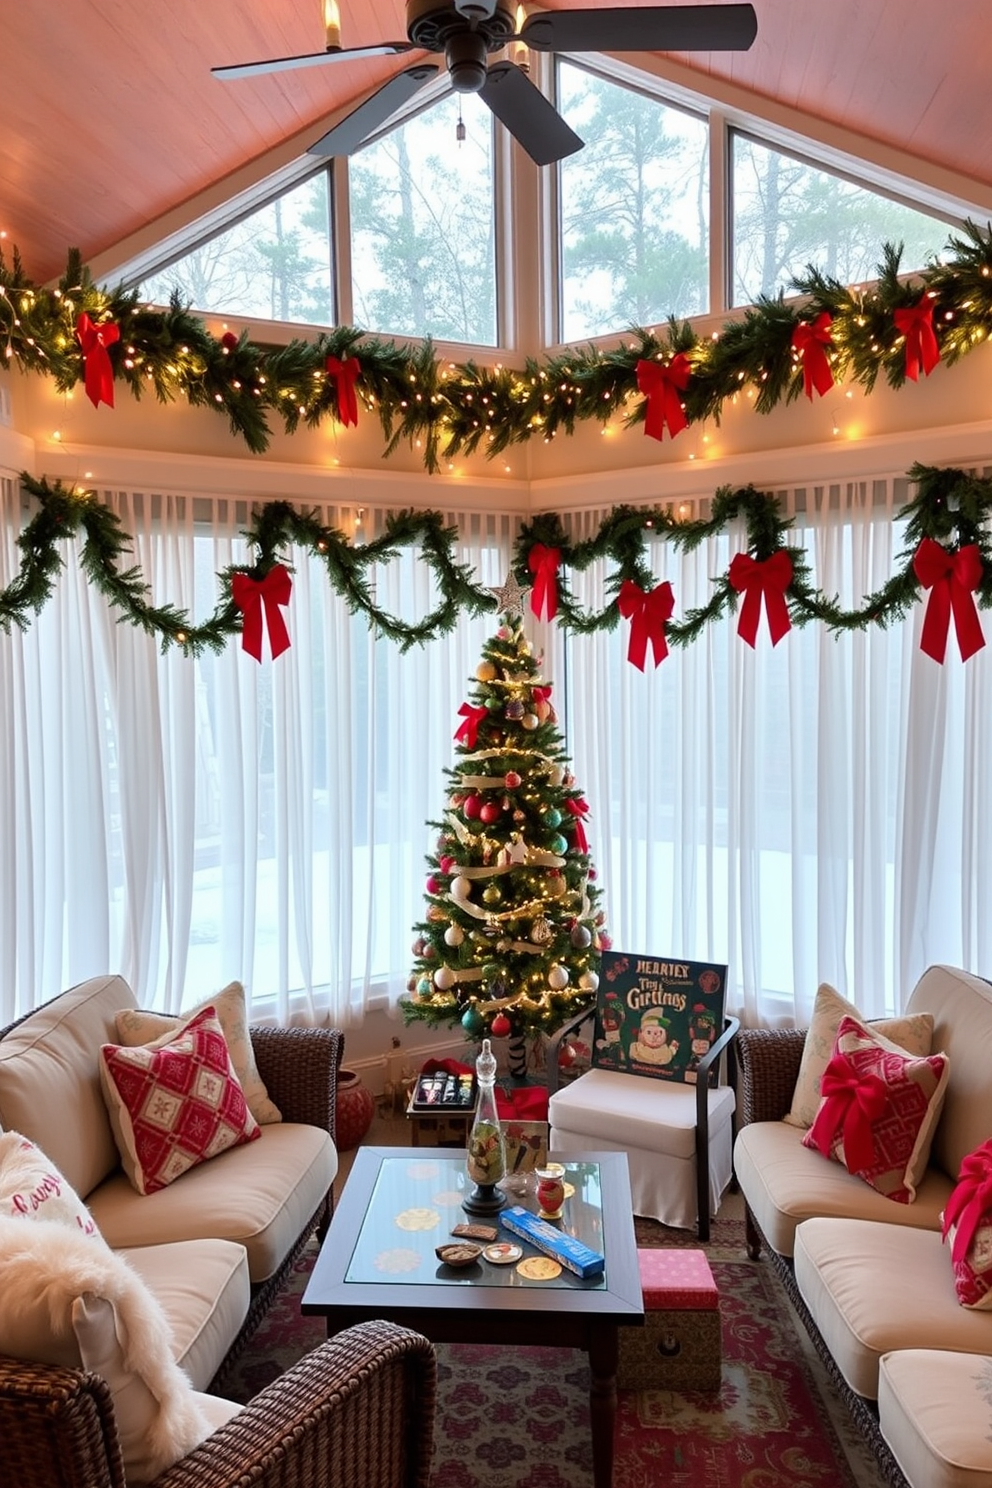
<svg viewBox="0 0 992 1488">
<path fill-rule="evenodd" d="M 668 506 L 616 506 L 604 518 L 599 531 L 584 542 L 573 543 L 555 512 L 544 512 L 522 525 L 513 555 L 518 583 L 531 583 L 529 557 L 534 548 L 558 549 L 556 573 L 558 619 L 565 629 L 587 635 L 614 629 L 620 619 L 619 595 L 625 582 L 647 592 L 654 586 L 650 545 L 660 539 L 675 549 L 692 552 L 708 537 L 744 525 L 744 551 L 764 562 L 778 552 L 791 559 L 791 582 L 785 601 L 793 625 L 819 620 L 831 631 L 866 629 L 869 625 L 888 626 L 901 619 L 921 598 L 921 583 L 913 568 L 913 557 L 924 539 L 931 539 L 949 554 L 974 545 L 980 579 L 974 588 L 979 609 L 992 609 L 992 481 L 964 470 L 915 464 L 909 472 L 916 494 L 898 513 L 906 522 L 906 545 L 897 571 L 880 589 L 869 594 L 860 606 L 843 609 L 839 598 L 814 588 L 811 567 L 803 548 L 788 542 L 791 519 L 784 518 L 775 496 L 756 487 L 721 487 L 712 497 L 706 519 L 681 521 Z M 92 583 L 119 612 L 120 619 L 158 635 L 162 650 L 175 644 L 186 655 L 196 656 L 205 649 L 222 650 L 231 635 L 239 634 L 242 616 L 232 597 L 236 573 L 263 579 L 286 557 L 290 545 L 315 557 L 327 573 L 327 582 L 352 613 L 366 616 L 402 650 L 434 640 L 454 629 L 461 613 L 483 615 L 497 609 L 494 589 L 474 582 L 466 564 L 455 559 L 457 530 L 446 527 L 439 512 L 405 510 L 388 513 L 385 531 L 369 543 L 352 545 L 347 536 L 320 521 L 317 512 L 297 510 L 290 501 L 268 501 L 253 510 L 244 537 L 253 549 L 254 562 L 231 565 L 219 574 L 219 598 L 213 615 L 195 623 L 173 604 L 153 604 L 137 565 L 126 565 L 125 555 L 132 539 L 123 531 L 119 516 L 101 504 L 92 491 L 65 487 L 57 481 L 21 475 L 24 490 L 37 501 L 37 513 L 27 522 L 16 545 L 21 552 L 18 573 L 0 589 L 0 629 L 27 629 L 33 613 L 40 612 L 52 595 L 64 558 L 65 539 L 82 537 L 79 562 Z M 437 589 L 437 604 L 418 620 L 402 620 L 378 606 L 372 565 L 390 562 L 403 548 L 416 548 L 430 567 Z M 583 573 L 598 559 L 614 567 L 607 576 L 610 595 L 601 610 L 583 610 L 571 592 L 568 573 Z M 712 576 L 712 595 L 699 609 L 689 610 L 681 620 L 665 626 L 669 644 L 687 646 L 700 631 L 733 613 L 739 594 L 729 574 Z"/>
</svg>

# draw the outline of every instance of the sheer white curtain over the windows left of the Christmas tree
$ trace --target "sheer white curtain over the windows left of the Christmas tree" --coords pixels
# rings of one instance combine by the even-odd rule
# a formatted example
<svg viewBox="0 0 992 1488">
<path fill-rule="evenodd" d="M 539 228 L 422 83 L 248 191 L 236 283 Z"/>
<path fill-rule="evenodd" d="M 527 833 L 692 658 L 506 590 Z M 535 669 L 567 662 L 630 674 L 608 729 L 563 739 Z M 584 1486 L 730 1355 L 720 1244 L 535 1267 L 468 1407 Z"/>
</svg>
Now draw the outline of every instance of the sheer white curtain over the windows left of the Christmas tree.
<svg viewBox="0 0 992 1488">
<path fill-rule="evenodd" d="M 0 585 L 19 562 L 4 481 Z M 245 559 L 244 504 L 101 493 L 156 601 L 207 616 L 216 574 Z M 357 542 L 378 510 L 327 509 Z M 500 583 L 515 521 L 449 512 L 457 558 Z M 259 665 L 236 638 L 187 659 L 117 623 L 65 551 L 30 628 L 0 637 L 0 1019 L 119 970 L 180 1009 L 244 981 L 256 1015 L 358 1022 L 405 990 L 424 854 L 466 682 L 492 618 L 408 652 L 376 638 L 324 568 L 289 555 L 292 647 Z M 436 603 L 412 552 L 376 565 L 403 619 Z"/>
</svg>

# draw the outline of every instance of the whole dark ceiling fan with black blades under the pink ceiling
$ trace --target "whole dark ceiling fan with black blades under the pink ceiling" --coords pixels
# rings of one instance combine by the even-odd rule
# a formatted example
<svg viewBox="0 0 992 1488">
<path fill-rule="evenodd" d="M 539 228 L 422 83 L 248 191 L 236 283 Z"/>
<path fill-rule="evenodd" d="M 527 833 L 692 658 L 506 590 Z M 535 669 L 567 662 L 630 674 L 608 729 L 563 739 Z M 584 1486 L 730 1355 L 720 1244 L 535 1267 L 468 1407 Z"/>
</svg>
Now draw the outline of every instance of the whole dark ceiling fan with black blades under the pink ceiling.
<svg viewBox="0 0 992 1488">
<path fill-rule="evenodd" d="M 327 46 L 302 57 L 211 68 L 214 77 L 256 77 L 293 67 L 364 57 L 433 52 L 445 58 L 455 92 L 479 94 L 538 165 L 582 149 L 583 141 L 516 62 L 488 64 L 492 52 L 522 43 L 535 52 L 745 52 L 757 34 L 753 4 L 684 4 L 544 10 L 522 19 L 513 0 L 406 0 L 406 42 L 341 46 L 336 0 L 324 3 Z M 519 30 L 518 30 L 519 25 Z M 439 71 L 416 62 L 391 77 L 309 146 L 311 155 L 351 155 Z"/>
</svg>

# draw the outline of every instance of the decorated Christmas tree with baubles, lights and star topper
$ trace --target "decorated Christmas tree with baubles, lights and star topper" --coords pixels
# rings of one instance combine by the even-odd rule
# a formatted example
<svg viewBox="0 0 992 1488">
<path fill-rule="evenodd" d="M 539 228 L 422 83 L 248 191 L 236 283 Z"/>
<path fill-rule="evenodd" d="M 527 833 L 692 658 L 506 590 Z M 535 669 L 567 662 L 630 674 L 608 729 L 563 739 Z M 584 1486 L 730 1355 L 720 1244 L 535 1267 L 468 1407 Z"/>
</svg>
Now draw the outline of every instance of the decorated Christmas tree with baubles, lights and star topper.
<svg viewBox="0 0 992 1488">
<path fill-rule="evenodd" d="M 524 634 L 521 591 L 509 580 L 495 592 L 500 628 L 460 708 L 448 805 L 431 823 L 427 918 L 415 927 L 402 1007 L 408 1024 L 461 1024 L 471 1039 L 509 1037 L 519 1049 L 593 1001 L 608 937 L 586 841 L 589 808 Z"/>
</svg>

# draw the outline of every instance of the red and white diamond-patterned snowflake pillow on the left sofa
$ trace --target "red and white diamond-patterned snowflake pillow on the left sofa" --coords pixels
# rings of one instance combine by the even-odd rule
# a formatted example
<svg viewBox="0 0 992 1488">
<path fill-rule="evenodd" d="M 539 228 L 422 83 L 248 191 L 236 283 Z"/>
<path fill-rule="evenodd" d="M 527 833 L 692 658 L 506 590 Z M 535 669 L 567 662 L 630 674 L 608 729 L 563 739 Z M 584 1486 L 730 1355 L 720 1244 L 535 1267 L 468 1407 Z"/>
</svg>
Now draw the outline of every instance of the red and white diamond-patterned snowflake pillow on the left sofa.
<svg viewBox="0 0 992 1488">
<path fill-rule="evenodd" d="M 100 1074 L 120 1162 L 138 1193 L 262 1135 L 213 1007 L 159 1048 L 103 1045 Z"/>
</svg>

